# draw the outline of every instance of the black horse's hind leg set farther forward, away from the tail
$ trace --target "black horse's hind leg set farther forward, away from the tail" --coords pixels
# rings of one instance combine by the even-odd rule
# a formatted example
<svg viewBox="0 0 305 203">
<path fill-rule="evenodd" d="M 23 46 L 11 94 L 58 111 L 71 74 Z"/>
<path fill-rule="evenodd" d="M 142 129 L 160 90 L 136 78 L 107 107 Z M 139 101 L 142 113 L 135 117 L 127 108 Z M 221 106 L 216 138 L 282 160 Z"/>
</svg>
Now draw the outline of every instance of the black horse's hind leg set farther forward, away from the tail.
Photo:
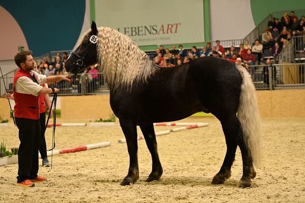
<svg viewBox="0 0 305 203">
<path fill-rule="evenodd" d="M 231 167 L 237 148 L 236 136 L 239 136 L 239 122 L 235 115 L 231 119 L 223 119 L 221 124 L 225 134 L 227 152 L 220 171 L 214 176 L 212 184 L 223 184 L 226 179 L 231 177 Z"/>
</svg>

